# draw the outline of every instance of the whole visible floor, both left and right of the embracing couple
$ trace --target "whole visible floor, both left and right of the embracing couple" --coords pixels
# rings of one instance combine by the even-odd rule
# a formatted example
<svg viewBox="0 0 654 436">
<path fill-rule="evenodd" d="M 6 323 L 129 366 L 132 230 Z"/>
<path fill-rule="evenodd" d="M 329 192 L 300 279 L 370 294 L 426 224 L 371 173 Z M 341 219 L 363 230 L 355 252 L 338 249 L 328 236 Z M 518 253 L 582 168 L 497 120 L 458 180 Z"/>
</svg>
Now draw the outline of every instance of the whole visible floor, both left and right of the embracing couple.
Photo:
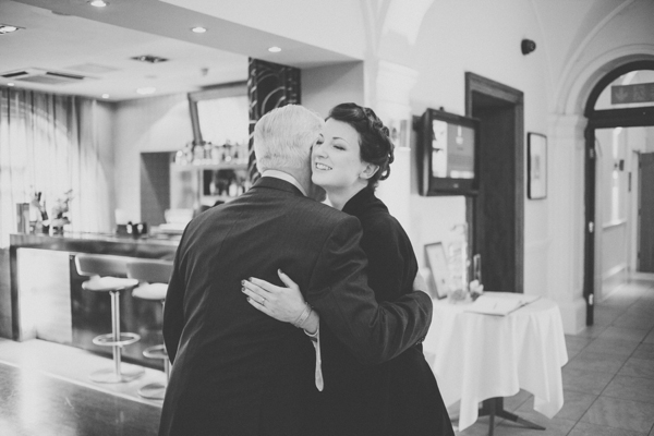
<svg viewBox="0 0 654 436">
<path fill-rule="evenodd" d="M 633 279 L 614 292 L 595 308 L 595 325 L 566 343 L 562 410 L 548 420 L 520 391 L 505 408 L 546 429 L 499 421 L 495 435 L 654 436 L 654 279 Z M 110 365 L 71 347 L 0 339 L 0 435 L 156 435 L 161 401 L 141 399 L 136 390 L 164 374 L 146 368 L 120 385 L 88 380 Z M 480 417 L 458 434 L 487 433 L 488 419 Z"/>
</svg>

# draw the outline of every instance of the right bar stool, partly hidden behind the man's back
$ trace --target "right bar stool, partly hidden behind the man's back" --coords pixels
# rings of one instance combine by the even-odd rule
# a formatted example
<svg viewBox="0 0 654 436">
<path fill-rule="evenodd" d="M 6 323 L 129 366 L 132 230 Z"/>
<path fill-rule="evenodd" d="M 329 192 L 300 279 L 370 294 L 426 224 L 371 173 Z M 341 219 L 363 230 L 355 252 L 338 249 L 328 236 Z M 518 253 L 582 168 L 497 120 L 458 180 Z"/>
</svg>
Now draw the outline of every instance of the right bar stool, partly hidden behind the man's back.
<svg viewBox="0 0 654 436">
<path fill-rule="evenodd" d="M 128 263 L 128 277 L 136 279 L 140 284 L 132 291 L 132 296 L 149 301 L 161 302 L 161 310 L 166 302 L 166 292 L 168 291 L 168 281 L 172 274 L 172 263 L 166 261 L 133 261 Z M 164 371 L 166 380 L 170 377 L 170 360 L 166 352 L 166 346 L 149 347 L 143 351 L 143 355 L 148 359 L 164 360 Z M 150 383 L 138 389 L 138 395 L 143 398 L 153 400 L 162 400 L 166 393 L 166 385 L 160 383 Z"/>
</svg>

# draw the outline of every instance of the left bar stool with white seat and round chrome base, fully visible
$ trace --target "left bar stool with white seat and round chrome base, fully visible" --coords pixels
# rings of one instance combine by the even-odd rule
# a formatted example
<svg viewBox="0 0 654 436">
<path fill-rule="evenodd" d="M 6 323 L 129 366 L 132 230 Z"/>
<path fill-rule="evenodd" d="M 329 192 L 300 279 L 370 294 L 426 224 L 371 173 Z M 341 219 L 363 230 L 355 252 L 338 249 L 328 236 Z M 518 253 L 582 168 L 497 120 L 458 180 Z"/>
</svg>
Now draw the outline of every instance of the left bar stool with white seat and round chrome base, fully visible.
<svg viewBox="0 0 654 436">
<path fill-rule="evenodd" d="M 93 338 L 93 343 L 111 347 L 113 367 L 96 371 L 90 379 L 97 383 L 124 383 L 141 377 L 142 367 L 121 368 L 121 353 L 124 346 L 134 343 L 141 336 L 120 331 L 120 293 L 138 284 L 137 280 L 126 278 L 126 259 L 120 256 L 77 254 L 75 256 L 77 274 L 90 277 L 82 283 L 82 289 L 92 292 L 109 292 L 111 295 L 111 332 Z"/>
</svg>

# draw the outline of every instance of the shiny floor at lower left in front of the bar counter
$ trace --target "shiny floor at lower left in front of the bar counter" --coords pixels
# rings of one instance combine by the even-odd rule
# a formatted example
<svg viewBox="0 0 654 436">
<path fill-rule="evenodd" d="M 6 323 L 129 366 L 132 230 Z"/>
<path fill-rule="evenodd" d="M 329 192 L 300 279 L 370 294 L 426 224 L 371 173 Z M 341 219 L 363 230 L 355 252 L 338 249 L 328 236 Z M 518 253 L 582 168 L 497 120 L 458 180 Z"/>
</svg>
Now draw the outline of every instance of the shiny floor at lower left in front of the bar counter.
<svg viewBox="0 0 654 436">
<path fill-rule="evenodd" d="M 142 399 L 136 391 L 166 376 L 145 368 L 145 375 L 124 384 L 88 379 L 112 364 L 73 347 L 0 339 L 0 435 L 155 436 L 161 401 Z"/>
</svg>

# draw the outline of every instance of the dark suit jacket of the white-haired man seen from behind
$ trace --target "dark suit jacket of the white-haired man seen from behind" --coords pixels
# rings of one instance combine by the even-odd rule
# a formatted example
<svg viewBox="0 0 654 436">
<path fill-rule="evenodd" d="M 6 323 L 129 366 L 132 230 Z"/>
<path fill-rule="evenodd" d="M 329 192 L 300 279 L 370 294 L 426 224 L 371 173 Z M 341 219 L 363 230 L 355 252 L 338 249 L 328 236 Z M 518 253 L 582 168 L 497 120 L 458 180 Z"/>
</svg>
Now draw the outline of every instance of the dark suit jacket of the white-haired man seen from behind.
<svg viewBox="0 0 654 436">
<path fill-rule="evenodd" d="M 311 435 L 315 354 L 302 329 L 246 302 L 241 280 L 281 286 L 281 268 L 362 363 L 422 339 L 426 293 L 377 304 L 367 287 L 359 220 L 264 177 L 186 227 L 164 313 L 171 362 L 159 435 Z M 325 379 L 329 384 L 329 379 Z"/>
</svg>

